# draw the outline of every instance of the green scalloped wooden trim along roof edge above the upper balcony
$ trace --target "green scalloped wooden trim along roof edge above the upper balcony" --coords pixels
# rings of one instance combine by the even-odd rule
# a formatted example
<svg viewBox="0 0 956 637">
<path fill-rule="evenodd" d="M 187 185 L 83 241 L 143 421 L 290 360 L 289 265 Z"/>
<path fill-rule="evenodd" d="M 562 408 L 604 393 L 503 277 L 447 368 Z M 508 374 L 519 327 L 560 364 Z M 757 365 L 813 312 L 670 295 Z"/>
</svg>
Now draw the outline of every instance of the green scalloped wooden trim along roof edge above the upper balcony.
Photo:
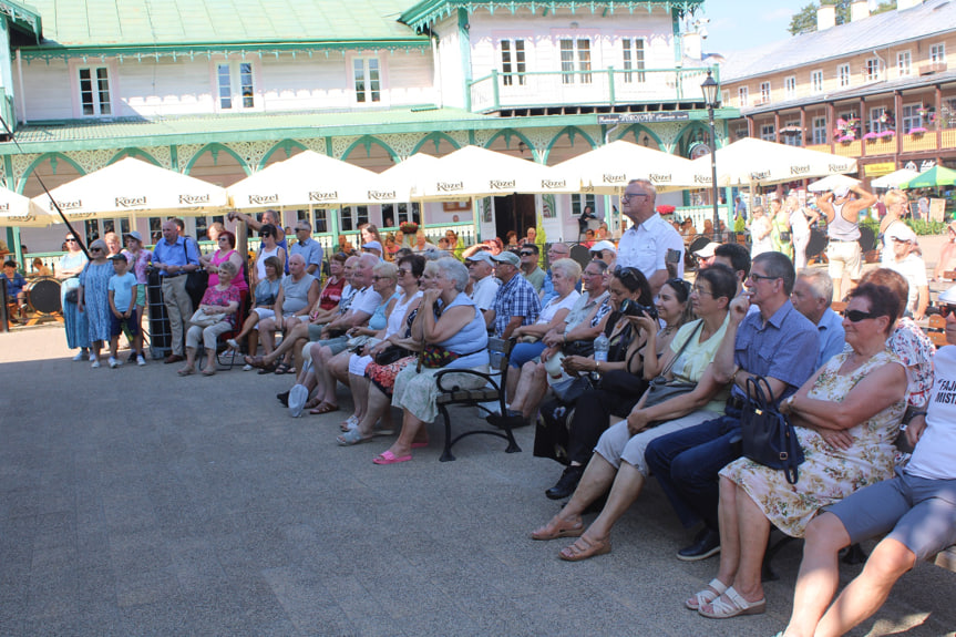
<svg viewBox="0 0 956 637">
<path fill-rule="evenodd" d="M 527 9 L 535 13 L 538 8 L 544 10 L 543 17 L 548 11 L 554 14 L 557 9 L 569 9 L 572 13 L 578 10 L 589 10 L 592 14 L 603 10 L 603 14 L 614 14 L 616 9 L 634 13 L 636 9 L 652 11 L 655 7 L 661 7 L 665 11 L 677 12 L 681 17 L 693 13 L 703 0 L 422 0 L 418 4 L 405 10 L 399 20 L 409 27 L 421 31 L 433 23 L 452 14 L 455 9 L 465 9 L 474 13 L 479 9 L 486 9 L 494 13 L 496 9 L 516 13 L 518 9 Z"/>
</svg>

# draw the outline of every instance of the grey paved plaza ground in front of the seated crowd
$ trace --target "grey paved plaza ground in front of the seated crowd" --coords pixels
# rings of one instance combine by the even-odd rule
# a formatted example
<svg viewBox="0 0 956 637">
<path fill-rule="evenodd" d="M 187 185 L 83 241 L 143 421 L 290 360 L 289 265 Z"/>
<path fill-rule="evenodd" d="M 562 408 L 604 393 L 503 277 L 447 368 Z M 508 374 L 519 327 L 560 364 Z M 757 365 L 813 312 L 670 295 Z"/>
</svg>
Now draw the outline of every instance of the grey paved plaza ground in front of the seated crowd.
<svg viewBox="0 0 956 637">
<path fill-rule="evenodd" d="M 773 635 L 800 548 L 767 615 L 698 617 L 682 599 L 716 559 L 652 485 L 614 552 L 556 557 L 527 533 L 557 510 L 559 468 L 472 436 L 440 463 L 340 449 L 337 414 L 289 419 L 290 377 L 178 378 L 71 362 L 61 329 L 0 335 L 0 635 Z M 462 418 L 472 418 L 463 415 Z M 435 442 L 440 436 L 432 429 Z M 843 568 L 845 578 L 859 567 Z M 953 635 L 956 574 L 921 565 L 854 635 Z"/>
</svg>

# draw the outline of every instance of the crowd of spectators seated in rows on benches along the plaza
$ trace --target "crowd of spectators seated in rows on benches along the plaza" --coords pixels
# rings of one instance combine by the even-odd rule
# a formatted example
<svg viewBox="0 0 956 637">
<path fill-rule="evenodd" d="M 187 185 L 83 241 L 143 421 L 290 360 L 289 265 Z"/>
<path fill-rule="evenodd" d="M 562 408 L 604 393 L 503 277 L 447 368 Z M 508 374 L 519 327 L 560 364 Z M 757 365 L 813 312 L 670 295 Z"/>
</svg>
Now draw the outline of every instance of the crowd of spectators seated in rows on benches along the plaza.
<svg viewBox="0 0 956 637">
<path fill-rule="evenodd" d="M 187 322 L 179 373 L 196 372 L 203 351 L 202 373 L 215 373 L 216 340 L 236 331 L 228 346 L 245 348 L 250 368 L 295 370 L 291 387 L 277 397 L 292 415 L 337 412 L 350 393 L 351 413 L 335 418 L 337 443 L 392 435 L 372 461 L 400 464 L 429 445 L 440 384 L 483 387 L 483 377 L 465 370 L 489 371 L 490 337 L 513 339 L 501 415 L 534 423 L 535 454 L 565 465 L 545 495 L 568 500 L 531 534 L 568 538 L 561 559 L 609 553 L 614 525 L 652 477 L 689 530 L 683 542 L 675 538 L 677 557 L 720 556 L 710 583 L 676 600 L 703 617 L 764 612 L 761 564 L 770 530 L 806 538 L 782 634 L 800 637 L 849 630 L 878 608 L 916 559 L 956 542 L 956 430 L 948 402 L 934 402 L 940 383 L 949 382 L 950 355 L 934 356 L 911 314 L 909 281 L 894 269 L 866 273 L 841 317 L 831 308 L 825 271 L 796 271 L 774 249 L 751 261 L 738 244 L 708 246 L 692 284 L 671 277 L 655 294 L 650 275 L 665 264 L 641 270 L 606 239 L 592 246 L 582 269 L 564 244 L 554 244 L 543 261 L 533 232 L 511 237 L 513 249 L 500 240 L 464 248 L 446 233 L 440 246 L 446 249 L 439 250 L 419 230 L 412 248 L 391 249 L 394 240 L 388 246 L 374 226 L 363 226 L 362 251 L 331 255 L 320 286 L 301 254 L 290 250 L 285 274 L 285 251 L 269 236 L 275 229 L 264 224 L 260 233 L 267 254 L 253 265 L 245 325 L 236 325 L 235 239 L 220 234 L 219 251 L 203 259 L 218 276 L 197 309 L 218 320 Z M 102 266 L 100 251 L 94 263 Z M 92 271 L 82 277 L 81 307 L 100 294 Z M 947 339 L 956 342 L 956 290 L 940 302 Z M 89 340 L 103 337 L 91 329 Z M 596 340 L 602 348 L 606 341 L 606 356 L 596 352 Z M 462 373 L 440 383 L 443 370 Z M 758 377 L 804 451 L 795 484 L 741 458 L 741 413 L 748 382 Z M 586 382 L 570 395 L 566 390 L 578 380 Z M 660 387 L 682 389 L 659 399 Z M 905 438 L 915 450 L 893 479 L 907 422 Z M 875 499 L 892 499 L 892 512 L 865 520 L 861 512 Z M 599 513 L 586 524 L 593 507 Z M 929 524 L 946 531 L 927 534 Z M 827 609 L 837 589 L 836 552 L 884 533 L 873 566 Z"/>
</svg>

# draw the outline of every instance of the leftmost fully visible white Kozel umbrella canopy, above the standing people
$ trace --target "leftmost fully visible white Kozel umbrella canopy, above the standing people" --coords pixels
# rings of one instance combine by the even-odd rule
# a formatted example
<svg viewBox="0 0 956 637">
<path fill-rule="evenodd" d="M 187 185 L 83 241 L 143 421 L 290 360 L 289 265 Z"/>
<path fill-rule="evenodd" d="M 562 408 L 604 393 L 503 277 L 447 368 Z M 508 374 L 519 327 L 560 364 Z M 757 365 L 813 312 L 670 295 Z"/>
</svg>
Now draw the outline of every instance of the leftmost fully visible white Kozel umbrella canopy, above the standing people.
<svg viewBox="0 0 956 637">
<path fill-rule="evenodd" d="M 228 204 L 225 188 L 133 157 L 78 177 L 50 195 L 71 220 L 131 214 L 205 215 Z M 45 194 L 33 202 L 56 213 Z"/>
</svg>

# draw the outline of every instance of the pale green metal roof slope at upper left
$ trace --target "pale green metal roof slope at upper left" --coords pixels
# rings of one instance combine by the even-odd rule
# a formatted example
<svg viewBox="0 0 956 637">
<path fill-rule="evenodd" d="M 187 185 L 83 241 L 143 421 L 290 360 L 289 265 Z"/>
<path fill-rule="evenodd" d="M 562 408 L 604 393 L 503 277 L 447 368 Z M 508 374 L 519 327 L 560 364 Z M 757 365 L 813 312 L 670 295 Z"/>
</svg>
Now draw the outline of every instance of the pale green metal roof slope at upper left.
<svg viewBox="0 0 956 637">
<path fill-rule="evenodd" d="M 243 44 L 419 37 L 410 0 L 30 0 L 44 47 Z"/>
</svg>

